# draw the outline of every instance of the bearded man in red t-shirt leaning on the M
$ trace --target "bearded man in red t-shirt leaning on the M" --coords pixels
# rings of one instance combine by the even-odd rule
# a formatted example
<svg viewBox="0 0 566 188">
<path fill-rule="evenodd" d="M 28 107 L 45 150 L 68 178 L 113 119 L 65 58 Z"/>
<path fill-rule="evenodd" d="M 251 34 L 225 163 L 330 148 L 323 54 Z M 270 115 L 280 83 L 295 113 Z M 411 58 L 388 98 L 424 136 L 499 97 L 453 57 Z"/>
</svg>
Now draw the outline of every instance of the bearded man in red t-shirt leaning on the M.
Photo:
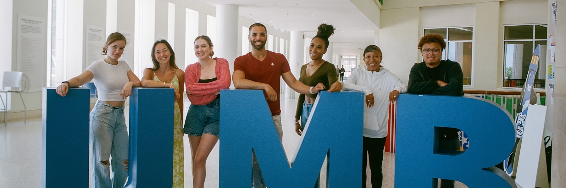
<svg viewBox="0 0 566 188">
<path fill-rule="evenodd" d="M 281 129 L 281 107 L 279 104 L 280 80 L 283 80 L 291 89 L 303 94 L 315 94 L 324 89 L 324 85 L 319 83 L 314 87 L 309 87 L 299 82 L 291 69 L 289 62 L 283 54 L 265 50 L 267 41 L 267 28 L 265 25 L 255 23 L 248 30 L 248 40 L 254 47 L 250 53 L 239 56 L 234 60 L 234 73 L 232 80 L 237 89 L 261 89 L 264 92 L 269 110 L 273 116 L 273 122 L 277 129 L 280 141 L 283 138 Z M 265 182 L 255 155 L 252 165 L 252 187 L 264 188 Z"/>
</svg>

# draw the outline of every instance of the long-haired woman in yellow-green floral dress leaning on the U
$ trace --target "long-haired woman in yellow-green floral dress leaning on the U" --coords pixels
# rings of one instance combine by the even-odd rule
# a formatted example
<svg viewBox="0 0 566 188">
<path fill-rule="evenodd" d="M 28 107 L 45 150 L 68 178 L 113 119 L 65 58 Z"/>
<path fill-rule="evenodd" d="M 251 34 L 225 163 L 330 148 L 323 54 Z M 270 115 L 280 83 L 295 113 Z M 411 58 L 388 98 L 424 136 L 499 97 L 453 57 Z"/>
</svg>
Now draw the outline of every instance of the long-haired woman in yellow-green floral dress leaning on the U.
<svg viewBox="0 0 566 188">
<path fill-rule="evenodd" d="M 185 187 L 183 163 L 183 88 L 185 72 L 175 64 L 175 52 L 165 40 L 153 43 L 151 60 L 153 68 L 146 68 L 141 86 L 146 88 L 174 88 L 173 98 L 173 187 Z"/>
</svg>

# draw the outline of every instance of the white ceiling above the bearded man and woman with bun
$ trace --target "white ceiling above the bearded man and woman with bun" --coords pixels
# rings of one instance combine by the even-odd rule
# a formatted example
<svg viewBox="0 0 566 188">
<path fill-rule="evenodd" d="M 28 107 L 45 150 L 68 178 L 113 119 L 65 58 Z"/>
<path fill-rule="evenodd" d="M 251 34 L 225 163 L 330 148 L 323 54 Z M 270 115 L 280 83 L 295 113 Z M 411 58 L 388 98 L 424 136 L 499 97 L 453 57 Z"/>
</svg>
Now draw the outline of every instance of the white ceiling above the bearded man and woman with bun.
<svg viewBox="0 0 566 188">
<path fill-rule="evenodd" d="M 374 43 L 370 21 L 350 0 L 201 0 L 209 5 L 237 5 L 239 15 L 289 31 L 304 31 L 306 37 L 316 34 L 318 25 L 332 24 L 335 34 L 333 54 L 359 55 L 361 49 Z M 314 15 L 312 15 L 314 14 Z"/>
</svg>

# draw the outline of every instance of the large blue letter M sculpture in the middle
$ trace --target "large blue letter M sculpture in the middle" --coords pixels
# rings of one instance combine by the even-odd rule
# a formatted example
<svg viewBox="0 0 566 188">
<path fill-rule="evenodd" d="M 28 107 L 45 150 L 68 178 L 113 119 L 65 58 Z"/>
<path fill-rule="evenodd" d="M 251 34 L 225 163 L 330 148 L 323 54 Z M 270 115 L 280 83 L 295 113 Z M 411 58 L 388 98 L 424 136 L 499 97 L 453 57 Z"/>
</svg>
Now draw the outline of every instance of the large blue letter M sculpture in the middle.
<svg viewBox="0 0 566 188">
<path fill-rule="evenodd" d="M 251 186 L 252 150 L 269 188 L 314 186 L 327 155 L 327 186 L 360 187 L 363 93 L 323 91 L 312 111 L 289 164 L 263 92 L 222 90 L 220 187 Z"/>
</svg>

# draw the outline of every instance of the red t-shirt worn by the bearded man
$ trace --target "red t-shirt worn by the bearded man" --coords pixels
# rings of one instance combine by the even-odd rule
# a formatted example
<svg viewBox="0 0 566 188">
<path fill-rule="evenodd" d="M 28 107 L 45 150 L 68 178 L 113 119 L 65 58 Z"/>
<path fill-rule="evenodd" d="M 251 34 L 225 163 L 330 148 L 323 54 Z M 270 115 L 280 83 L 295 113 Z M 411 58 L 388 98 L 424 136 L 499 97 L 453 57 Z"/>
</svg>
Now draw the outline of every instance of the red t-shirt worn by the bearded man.
<svg viewBox="0 0 566 188">
<path fill-rule="evenodd" d="M 267 100 L 271 115 L 281 114 L 281 105 L 279 104 L 279 88 L 281 82 L 281 74 L 291 71 L 289 62 L 283 54 L 267 51 L 267 56 L 263 61 L 255 59 L 251 53 L 239 56 L 234 60 L 234 71 L 243 71 L 246 79 L 269 84 L 275 92 L 277 92 L 277 100 Z M 265 91 L 263 95 L 267 97 Z"/>
</svg>

